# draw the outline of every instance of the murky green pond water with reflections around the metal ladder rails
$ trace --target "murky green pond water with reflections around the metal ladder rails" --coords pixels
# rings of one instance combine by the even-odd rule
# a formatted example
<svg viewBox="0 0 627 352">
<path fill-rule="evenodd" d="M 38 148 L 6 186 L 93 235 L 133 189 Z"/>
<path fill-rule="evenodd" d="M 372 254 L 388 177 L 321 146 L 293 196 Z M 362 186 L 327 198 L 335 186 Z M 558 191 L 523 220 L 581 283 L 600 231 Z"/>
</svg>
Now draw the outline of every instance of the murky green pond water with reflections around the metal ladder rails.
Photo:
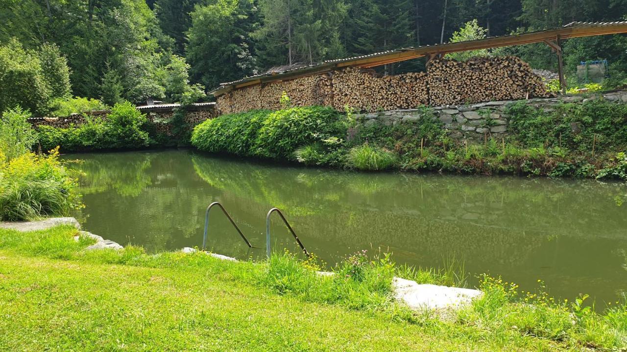
<svg viewBox="0 0 627 352">
<path fill-rule="evenodd" d="M 473 275 L 500 275 L 529 291 L 542 279 L 559 298 L 588 293 L 599 304 L 627 289 L 625 184 L 357 173 L 191 150 L 64 157 L 81 161 L 72 167 L 83 172 L 83 228 L 149 252 L 201 246 L 204 211 L 219 201 L 262 248 L 266 212 L 278 207 L 330 265 L 380 248 L 422 267 L 456 257 Z M 278 217 L 271 229 L 273 249 L 298 251 Z M 242 259 L 265 254 L 248 249 L 217 208 L 207 246 Z"/>
</svg>

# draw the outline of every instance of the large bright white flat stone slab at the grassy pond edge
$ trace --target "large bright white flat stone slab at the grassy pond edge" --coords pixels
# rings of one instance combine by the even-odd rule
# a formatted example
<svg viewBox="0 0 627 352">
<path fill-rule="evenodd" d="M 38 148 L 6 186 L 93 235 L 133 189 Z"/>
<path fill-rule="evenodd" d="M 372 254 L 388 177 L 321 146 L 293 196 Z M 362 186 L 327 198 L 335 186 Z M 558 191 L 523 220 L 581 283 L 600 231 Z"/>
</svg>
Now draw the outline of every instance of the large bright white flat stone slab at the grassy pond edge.
<svg viewBox="0 0 627 352">
<path fill-rule="evenodd" d="M 483 295 L 476 289 L 418 284 L 400 277 L 394 277 L 393 286 L 396 299 L 412 309 L 460 308 Z"/>
</svg>

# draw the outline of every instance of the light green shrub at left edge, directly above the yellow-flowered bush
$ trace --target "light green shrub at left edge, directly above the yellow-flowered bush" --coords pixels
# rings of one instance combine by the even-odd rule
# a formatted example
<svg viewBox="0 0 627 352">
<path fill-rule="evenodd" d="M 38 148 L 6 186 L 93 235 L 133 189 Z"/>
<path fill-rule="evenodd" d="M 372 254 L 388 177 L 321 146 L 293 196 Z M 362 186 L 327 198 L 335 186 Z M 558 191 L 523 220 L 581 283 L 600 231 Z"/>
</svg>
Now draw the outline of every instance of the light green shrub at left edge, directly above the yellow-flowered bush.
<svg viewBox="0 0 627 352">
<path fill-rule="evenodd" d="M 37 133 L 27 120 L 30 116 L 19 107 L 0 115 L 0 162 L 28 153 L 37 142 Z"/>
</svg>

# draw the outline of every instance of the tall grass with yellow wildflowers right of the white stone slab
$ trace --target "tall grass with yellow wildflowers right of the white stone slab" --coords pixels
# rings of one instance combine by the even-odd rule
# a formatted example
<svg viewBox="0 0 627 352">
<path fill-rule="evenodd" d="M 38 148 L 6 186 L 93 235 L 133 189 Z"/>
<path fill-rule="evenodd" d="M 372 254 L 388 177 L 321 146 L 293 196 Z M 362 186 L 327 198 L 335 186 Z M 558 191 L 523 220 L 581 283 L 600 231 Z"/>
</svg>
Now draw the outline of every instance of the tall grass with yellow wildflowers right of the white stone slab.
<svg viewBox="0 0 627 352">
<path fill-rule="evenodd" d="M 483 276 L 483 296 L 458 312 L 458 321 L 498 334 L 522 334 L 586 348 L 627 349 L 627 306 L 597 313 L 587 295 L 569 301 L 552 298 L 540 283 L 534 292 L 518 291 L 513 282 Z"/>
</svg>

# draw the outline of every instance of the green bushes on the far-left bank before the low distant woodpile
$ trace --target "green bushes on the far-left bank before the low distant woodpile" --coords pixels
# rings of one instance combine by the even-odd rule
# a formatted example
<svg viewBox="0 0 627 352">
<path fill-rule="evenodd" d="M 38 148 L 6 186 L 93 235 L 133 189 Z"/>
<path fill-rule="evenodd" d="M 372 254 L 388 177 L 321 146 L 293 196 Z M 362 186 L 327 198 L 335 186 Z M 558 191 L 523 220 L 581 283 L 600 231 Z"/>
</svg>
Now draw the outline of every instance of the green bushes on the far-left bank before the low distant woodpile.
<svg viewBox="0 0 627 352">
<path fill-rule="evenodd" d="M 70 128 L 42 125 L 40 144 L 45 149 L 64 151 L 149 147 L 152 140 L 144 130 L 147 119 L 128 101 L 117 103 L 106 119 L 85 116 L 85 123 Z"/>
</svg>

